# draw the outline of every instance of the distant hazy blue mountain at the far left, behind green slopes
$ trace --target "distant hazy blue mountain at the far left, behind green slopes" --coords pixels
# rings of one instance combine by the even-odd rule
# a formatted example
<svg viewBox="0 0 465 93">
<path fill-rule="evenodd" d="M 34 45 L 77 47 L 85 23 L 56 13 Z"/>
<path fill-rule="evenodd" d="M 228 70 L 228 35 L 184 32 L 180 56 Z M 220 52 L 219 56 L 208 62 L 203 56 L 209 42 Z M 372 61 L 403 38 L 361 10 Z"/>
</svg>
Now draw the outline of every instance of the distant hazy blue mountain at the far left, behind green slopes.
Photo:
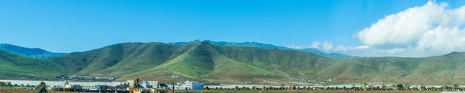
<svg viewBox="0 0 465 93">
<path fill-rule="evenodd" d="M 0 50 L 4 50 L 7 52 L 13 52 L 16 54 L 20 54 L 20 55 L 32 57 L 32 58 L 50 58 L 50 57 L 58 57 L 58 56 L 66 54 L 66 53 L 48 52 L 40 48 L 19 47 L 19 46 L 14 46 L 11 44 L 0 44 Z"/>
</svg>

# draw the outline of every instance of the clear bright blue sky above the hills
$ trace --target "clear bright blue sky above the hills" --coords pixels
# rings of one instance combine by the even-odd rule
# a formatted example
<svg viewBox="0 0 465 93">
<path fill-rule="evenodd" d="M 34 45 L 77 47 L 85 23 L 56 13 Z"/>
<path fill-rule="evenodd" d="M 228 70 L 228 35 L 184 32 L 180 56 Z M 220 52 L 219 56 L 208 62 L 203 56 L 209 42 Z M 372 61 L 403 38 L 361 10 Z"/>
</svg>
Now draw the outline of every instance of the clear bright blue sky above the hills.
<svg viewBox="0 0 465 93">
<path fill-rule="evenodd" d="M 427 2 L 1 0 L 0 43 L 78 52 L 122 42 L 146 42 L 150 36 L 152 42 L 166 43 L 199 39 L 306 47 L 314 41 L 329 41 L 334 47 L 357 47 L 367 44 L 354 34 L 387 15 Z M 449 3 L 448 8 L 465 5 L 464 0 L 436 2 Z"/>
</svg>

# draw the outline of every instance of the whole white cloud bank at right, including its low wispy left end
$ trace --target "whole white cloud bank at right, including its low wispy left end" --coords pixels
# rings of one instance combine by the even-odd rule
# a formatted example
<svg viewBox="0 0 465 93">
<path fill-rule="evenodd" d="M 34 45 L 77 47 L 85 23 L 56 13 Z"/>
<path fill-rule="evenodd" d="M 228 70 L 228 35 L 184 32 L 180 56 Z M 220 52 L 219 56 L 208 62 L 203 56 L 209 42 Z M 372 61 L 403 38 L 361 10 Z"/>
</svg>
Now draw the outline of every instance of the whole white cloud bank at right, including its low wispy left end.
<svg viewBox="0 0 465 93">
<path fill-rule="evenodd" d="M 445 2 L 428 1 L 424 6 L 385 16 L 353 35 L 362 43 L 358 47 L 332 47 L 327 41 L 314 41 L 317 45 L 312 47 L 368 57 L 427 57 L 464 52 L 465 6 L 449 7 Z"/>
</svg>

